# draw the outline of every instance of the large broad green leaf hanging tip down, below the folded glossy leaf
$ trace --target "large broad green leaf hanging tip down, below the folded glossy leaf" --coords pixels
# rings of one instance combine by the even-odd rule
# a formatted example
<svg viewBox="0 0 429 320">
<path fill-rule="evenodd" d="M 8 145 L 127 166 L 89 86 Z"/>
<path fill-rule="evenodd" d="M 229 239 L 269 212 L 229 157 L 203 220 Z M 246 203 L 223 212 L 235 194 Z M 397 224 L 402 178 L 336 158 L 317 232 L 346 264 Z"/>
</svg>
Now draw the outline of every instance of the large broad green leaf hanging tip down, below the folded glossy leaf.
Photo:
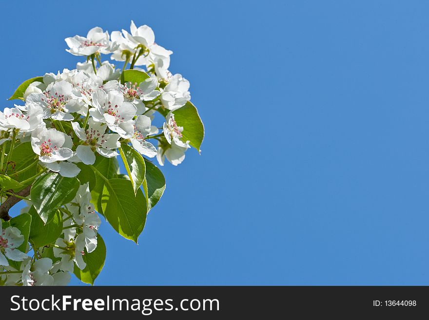
<svg viewBox="0 0 429 320">
<path fill-rule="evenodd" d="M 124 238 L 137 243 L 146 222 L 146 200 L 141 189 L 134 194 L 131 181 L 109 179 L 101 199 L 104 216 Z"/>
</svg>

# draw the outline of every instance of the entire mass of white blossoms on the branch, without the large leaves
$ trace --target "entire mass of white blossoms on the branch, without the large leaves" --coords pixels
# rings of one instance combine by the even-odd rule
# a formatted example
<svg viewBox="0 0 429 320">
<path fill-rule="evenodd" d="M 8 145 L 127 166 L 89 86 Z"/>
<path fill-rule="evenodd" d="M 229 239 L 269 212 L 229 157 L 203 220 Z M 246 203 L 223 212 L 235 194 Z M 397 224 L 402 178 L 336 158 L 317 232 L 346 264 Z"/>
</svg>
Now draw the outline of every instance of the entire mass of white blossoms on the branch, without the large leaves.
<svg viewBox="0 0 429 320">
<path fill-rule="evenodd" d="M 95 27 L 86 37 L 65 42 L 67 52 L 85 60 L 76 69 L 32 79 L 19 96 L 23 103 L 0 112 L 1 174 L 12 172 L 16 179 L 10 157 L 14 147 L 24 143 L 31 145 L 38 175 L 57 172 L 63 178 L 77 177 L 82 165 L 92 166 L 99 157 L 115 158 L 125 145 L 145 159 L 157 159 L 160 166 L 165 159 L 174 166 L 182 163 L 190 141 L 184 138 L 187 128 L 177 124 L 175 112 L 190 101 L 190 84 L 168 70 L 173 52 L 156 44 L 153 30 L 131 21 L 130 31 L 109 35 Z M 108 54 L 111 60 L 103 61 L 102 55 Z M 123 62 L 123 68 L 111 63 L 115 61 Z M 33 181 L 19 181 L 20 187 Z M 0 185 L 0 201 L 20 187 L 6 190 Z M 23 212 L 37 207 L 32 199 L 26 201 Z M 31 239 L 22 248 L 28 234 L 14 226 L 3 229 L 0 219 L 0 283 L 63 285 L 75 267 L 85 269 L 84 256 L 96 250 L 100 226 L 88 183 L 80 184 L 74 199 L 62 204 L 59 213 L 62 232 L 42 248 Z"/>
</svg>

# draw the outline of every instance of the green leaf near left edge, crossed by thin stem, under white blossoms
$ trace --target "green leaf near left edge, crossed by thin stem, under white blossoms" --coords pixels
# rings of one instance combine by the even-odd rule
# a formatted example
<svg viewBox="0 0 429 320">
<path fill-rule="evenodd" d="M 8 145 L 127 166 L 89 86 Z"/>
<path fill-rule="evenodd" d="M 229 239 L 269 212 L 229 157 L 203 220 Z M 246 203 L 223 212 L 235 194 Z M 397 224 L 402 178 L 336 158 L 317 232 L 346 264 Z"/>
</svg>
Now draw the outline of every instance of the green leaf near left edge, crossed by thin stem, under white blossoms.
<svg viewBox="0 0 429 320">
<path fill-rule="evenodd" d="M 12 167 L 9 166 L 7 174 L 13 179 L 20 182 L 36 175 L 39 160 L 31 147 L 31 142 L 24 142 L 16 146 L 10 161 L 13 169 L 11 170 Z M 14 175 L 15 172 L 19 173 Z"/>
</svg>

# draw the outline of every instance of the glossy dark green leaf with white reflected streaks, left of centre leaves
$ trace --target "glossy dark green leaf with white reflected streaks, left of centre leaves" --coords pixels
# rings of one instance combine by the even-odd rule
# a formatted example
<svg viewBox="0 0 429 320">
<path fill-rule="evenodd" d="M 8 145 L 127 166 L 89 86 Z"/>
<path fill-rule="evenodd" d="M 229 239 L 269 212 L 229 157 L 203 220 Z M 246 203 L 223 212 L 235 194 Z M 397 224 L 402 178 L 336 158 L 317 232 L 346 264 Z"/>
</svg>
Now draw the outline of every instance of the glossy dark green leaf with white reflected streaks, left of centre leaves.
<svg viewBox="0 0 429 320">
<path fill-rule="evenodd" d="M 66 178 L 57 172 L 42 175 L 31 188 L 31 201 L 45 224 L 54 219 L 59 207 L 73 200 L 79 180 Z"/>
</svg>

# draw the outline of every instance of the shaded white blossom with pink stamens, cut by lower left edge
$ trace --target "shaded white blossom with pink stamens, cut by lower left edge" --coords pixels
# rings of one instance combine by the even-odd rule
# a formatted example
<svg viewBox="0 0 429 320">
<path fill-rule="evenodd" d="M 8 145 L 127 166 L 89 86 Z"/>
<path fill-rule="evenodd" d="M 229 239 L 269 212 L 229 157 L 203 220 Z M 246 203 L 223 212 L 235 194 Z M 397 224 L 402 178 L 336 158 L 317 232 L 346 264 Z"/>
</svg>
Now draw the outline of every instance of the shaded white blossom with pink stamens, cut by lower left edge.
<svg viewBox="0 0 429 320">
<path fill-rule="evenodd" d="M 24 236 L 20 229 L 14 226 L 2 228 L 0 219 L 0 265 L 9 265 L 6 258 L 13 261 L 22 261 L 27 258 L 27 255 L 18 250 L 18 247 L 24 242 Z"/>
</svg>

